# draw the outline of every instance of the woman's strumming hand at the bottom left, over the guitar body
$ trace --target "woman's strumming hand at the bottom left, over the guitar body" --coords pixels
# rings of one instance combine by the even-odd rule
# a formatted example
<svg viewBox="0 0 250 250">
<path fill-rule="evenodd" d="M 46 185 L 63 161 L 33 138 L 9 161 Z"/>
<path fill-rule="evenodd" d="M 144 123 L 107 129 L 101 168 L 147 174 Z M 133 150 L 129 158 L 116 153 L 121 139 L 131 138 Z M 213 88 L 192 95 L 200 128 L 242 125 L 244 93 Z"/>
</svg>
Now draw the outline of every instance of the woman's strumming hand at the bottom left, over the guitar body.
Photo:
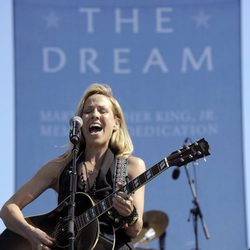
<svg viewBox="0 0 250 250">
<path fill-rule="evenodd" d="M 29 231 L 28 240 L 31 243 L 32 250 L 50 250 L 50 246 L 53 246 L 55 242 L 55 239 L 35 227 Z"/>
</svg>

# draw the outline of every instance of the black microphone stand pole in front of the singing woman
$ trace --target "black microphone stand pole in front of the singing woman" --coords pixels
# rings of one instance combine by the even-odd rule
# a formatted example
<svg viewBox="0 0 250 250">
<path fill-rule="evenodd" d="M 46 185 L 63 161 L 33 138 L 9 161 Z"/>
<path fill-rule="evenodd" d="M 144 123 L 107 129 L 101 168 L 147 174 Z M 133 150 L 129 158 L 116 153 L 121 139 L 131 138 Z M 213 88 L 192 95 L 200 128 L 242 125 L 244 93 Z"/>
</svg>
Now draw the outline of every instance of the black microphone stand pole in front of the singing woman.
<svg viewBox="0 0 250 250">
<path fill-rule="evenodd" d="M 75 194 L 77 184 L 76 159 L 79 151 L 78 141 L 73 143 L 72 148 L 72 167 L 70 174 L 70 201 L 68 209 L 68 233 L 69 233 L 69 250 L 75 247 Z"/>
</svg>

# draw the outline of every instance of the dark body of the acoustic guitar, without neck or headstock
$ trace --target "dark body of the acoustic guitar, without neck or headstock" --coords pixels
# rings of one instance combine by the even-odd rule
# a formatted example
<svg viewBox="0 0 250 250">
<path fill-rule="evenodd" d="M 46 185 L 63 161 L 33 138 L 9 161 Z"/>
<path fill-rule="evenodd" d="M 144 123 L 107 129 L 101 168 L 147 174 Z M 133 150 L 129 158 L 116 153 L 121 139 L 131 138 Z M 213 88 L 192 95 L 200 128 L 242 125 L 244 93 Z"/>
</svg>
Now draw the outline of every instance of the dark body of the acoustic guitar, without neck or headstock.
<svg viewBox="0 0 250 250">
<path fill-rule="evenodd" d="M 84 193 L 76 193 L 75 216 L 81 215 L 86 209 L 94 205 L 94 201 Z M 27 217 L 28 223 L 45 231 L 56 239 L 52 250 L 69 248 L 68 242 L 68 204 L 69 197 L 61 202 L 58 207 L 47 214 Z M 81 250 L 112 250 L 114 248 L 114 228 L 95 219 L 86 227 L 78 228 L 75 225 L 75 248 Z M 9 229 L 3 231 L 0 236 L 0 246 L 3 250 L 31 250 L 28 240 L 12 232 Z"/>
</svg>

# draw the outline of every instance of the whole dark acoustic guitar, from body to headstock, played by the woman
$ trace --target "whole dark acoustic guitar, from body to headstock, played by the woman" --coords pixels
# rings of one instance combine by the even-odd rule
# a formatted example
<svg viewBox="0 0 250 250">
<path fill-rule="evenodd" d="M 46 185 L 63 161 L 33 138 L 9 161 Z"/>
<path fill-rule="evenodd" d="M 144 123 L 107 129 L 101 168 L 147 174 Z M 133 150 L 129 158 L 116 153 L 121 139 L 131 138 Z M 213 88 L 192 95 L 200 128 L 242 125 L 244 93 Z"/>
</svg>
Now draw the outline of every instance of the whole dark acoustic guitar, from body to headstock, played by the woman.
<svg viewBox="0 0 250 250">
<path fill-rule="evenodd" d="M 102 215 L 111 210 L 112 199 L 117 192 L 133 193 L 168 168 L 172 166 L 181 167 L 207 155 L 210 155 L 209 145 L 202 138 L 174 151 L 103 200 L 95 203 L 88 194 L 76 193 L 74 227 L 76 249 L 114 249 L 115 228 L 105 223 L 101 218 Z M 55 238 L 55 245 L 51 248 L 53 250 L 63 250 L 69 247 L 68 205 L 69 197 L 49 213 L 25 218 L 28 223 Z M 0 236 L 0 249 L 31 250 L 31 245 L 27 239 L 9 229 L 5 229 Z"/>
</svg>

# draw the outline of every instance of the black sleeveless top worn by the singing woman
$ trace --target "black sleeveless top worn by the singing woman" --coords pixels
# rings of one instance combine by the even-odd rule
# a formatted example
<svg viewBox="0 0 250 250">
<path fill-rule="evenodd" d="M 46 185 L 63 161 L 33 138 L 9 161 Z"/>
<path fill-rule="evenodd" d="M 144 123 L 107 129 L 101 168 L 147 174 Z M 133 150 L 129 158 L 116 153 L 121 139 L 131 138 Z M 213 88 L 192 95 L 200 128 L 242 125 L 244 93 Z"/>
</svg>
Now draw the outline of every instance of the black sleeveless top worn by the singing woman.
<svg viewBox="0 0 250 250">
<path fill-rule="evenodd" d="M 77 166 L 84 161 L 84 153 L 80 153 L 77 157 Z M 87 192 L 94 200 L 102 200 L 113 192 L 113 179 L 115 172 L 116 156 L 113 152 L 108 149 L 105 153 L 101 167 L 94 184 Z M 58 192 L 58 204 L 66 199 L 70 192 L 70 174 L 69 170 L 71 168 L 72 161 L 65 166 L 63 172 L 61 173 L 59 179 L 59 192 Z M 85 192 L 85 185 L 80 178 L 77 178 L 77 192 Z M 126 250 L 134 249 L 131 238 L 125 233 L 123 228 L 120 228 L 115 233 L 115 250 Z"/>
</svg>

